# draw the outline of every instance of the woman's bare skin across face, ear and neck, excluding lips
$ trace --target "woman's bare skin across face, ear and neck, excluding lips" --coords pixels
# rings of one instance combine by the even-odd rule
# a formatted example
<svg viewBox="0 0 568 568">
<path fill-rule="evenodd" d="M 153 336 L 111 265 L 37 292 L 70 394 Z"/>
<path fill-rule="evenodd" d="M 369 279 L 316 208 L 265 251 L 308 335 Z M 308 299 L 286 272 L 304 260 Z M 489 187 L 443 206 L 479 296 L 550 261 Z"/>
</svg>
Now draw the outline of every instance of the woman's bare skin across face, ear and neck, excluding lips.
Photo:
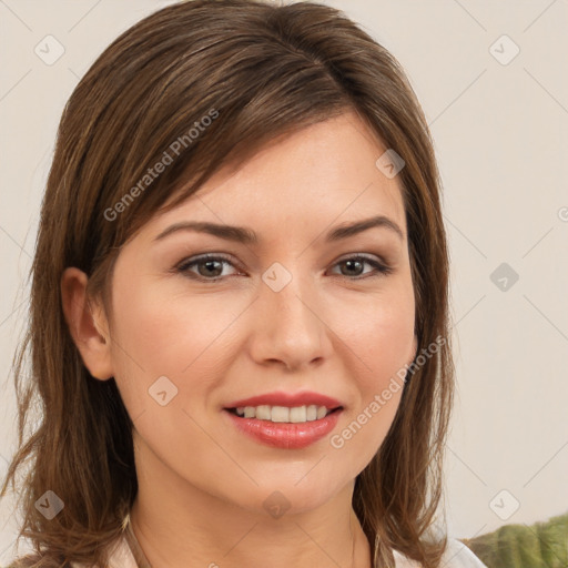
<svg viewBox="0 0 568 568">
<path fill-rule="evenodd" d="M 120 252 L 112 318 L 95 298 L 88 307 L 82 272 L 64 272 L 65 317 L 84 364 L 98 379 L 115 377 L 134 422 L 131 519 L 154 568 L 372 566 L 352 508 L 354 481 L 384 440 L 402 389 L 341 449 L 329 438 L 416 353 L 400 185 L 375 165 L 385 150 L 348 112 L 276 139 L 236 172 L 220 170 Z M 378 214 L 403 237 L 373 227 L 323 239 Z M 187 220 L 246 226 L 260 243 L 191 231 L 153 241 Z M 172 271 L 203 253 L 230 263 Z M 347 266 L 357 254 L 392 273 Z M 280 292 L 262 280 L 274 262 L 292 275 Z M 178 388 L 165 406 L 149 396 L 161 376 Z M 239 433 L 222 408 L 273 390 L 315 390 L 344 410 L 331 435 L 307 448 L 271 448 Z M 273 491 L 290 504 L 280 518 L 263 507 Z"/>
</svg>

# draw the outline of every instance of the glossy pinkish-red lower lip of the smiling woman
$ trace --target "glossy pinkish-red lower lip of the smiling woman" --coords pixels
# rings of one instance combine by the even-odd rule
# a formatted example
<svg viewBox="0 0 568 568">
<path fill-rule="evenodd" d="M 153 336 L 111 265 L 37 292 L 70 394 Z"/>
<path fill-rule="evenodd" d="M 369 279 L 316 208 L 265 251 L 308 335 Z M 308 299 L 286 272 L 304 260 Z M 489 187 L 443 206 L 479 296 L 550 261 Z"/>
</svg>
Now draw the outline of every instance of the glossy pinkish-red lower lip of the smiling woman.
<svg viewBox="0 0 568 568">
<path fill-rule="evenodd" d="M 290 424 L 258 420 L 257 418 L 241 418 L 229 410 L 224 410 L 243 434 L 266 446 L 284 449 L 305 448 L 322 439 L 335 428 L 342 412 L 335 410 L 320 420 Z"/>
</svg>

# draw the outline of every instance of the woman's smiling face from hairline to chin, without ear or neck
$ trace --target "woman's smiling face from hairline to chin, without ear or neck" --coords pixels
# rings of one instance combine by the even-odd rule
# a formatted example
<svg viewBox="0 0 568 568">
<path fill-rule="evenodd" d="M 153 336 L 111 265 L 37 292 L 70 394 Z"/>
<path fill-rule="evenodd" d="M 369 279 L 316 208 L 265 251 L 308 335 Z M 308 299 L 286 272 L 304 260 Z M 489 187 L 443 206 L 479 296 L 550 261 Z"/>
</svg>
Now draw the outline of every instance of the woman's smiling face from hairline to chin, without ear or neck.
<svg viewBox="0 0 568 568">
<path fill-rule="evenodd" d="M 375 164 L 385 151 L 355 114 L 316 124 L 236 173 L 221 170 L 124 246 L 109 353 L 139 477 L 301 511 L 371 462 L 402 388 L 382 394 L 416 351 L 400 186 Z M 376 216 L 389 222 L 329 236 Z M 225 236 L 189 223 L 222 225 Z M 317 412 L 311 403 L 325 406 L 313 396 L 253 400 L 261 418 L 227 409 L 274 393 L 322 395 L 341 409 L 303 422 Z"/>
</svg>

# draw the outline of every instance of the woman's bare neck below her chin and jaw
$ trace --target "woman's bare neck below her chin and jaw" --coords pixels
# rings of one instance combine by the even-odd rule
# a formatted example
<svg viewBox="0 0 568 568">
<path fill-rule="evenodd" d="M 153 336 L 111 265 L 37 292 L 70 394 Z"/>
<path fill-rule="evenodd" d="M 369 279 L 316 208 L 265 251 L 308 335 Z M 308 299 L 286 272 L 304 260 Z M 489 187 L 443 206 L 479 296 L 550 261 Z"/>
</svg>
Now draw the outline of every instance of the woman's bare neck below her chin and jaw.
<svg viewBox="0 0 568 568">
<path fill-rule="evenodd" d="M 273 518 L 200 490 L 158 456 L 144 456 L 143 471 L 130 520 L 152 568 L 372 566 L 351 505 L 353 483 L 316 509 Z"/>
</svg>

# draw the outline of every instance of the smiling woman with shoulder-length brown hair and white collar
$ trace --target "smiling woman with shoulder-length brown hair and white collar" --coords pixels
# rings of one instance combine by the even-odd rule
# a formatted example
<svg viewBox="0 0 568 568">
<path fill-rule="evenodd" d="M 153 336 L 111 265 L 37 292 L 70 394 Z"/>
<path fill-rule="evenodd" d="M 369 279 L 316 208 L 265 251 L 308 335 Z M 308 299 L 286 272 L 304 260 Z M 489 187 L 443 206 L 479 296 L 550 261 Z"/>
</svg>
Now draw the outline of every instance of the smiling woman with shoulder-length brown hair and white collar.
<svg viewBox="0 0 568 568">
<path fill-rule="evenodd" d="M 124 32 L 64 110 L 32 276 L 14 566 L 483 566 L 434 523 L 432 141 L 341 12 L 196 0 Z"/>
</svg>

